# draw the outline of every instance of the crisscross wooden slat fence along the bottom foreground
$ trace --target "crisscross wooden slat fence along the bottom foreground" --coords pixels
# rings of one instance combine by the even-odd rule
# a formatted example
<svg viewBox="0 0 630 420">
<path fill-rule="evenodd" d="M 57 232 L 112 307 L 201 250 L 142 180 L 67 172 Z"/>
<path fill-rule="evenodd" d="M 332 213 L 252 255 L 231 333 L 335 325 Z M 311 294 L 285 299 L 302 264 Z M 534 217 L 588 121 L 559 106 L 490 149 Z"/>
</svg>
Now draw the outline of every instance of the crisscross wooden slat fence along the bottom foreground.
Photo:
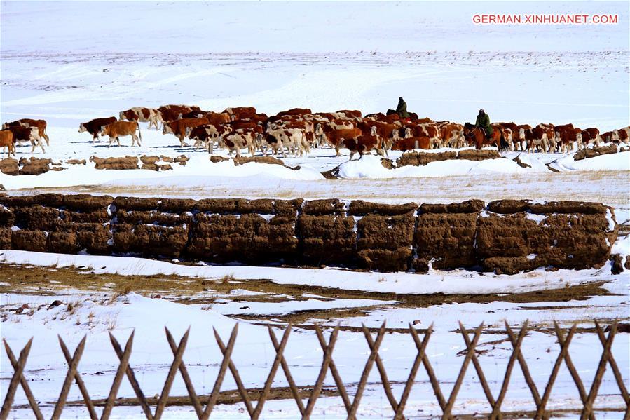
<svg viewBox="0 0 630 420">
<path fill-rule="evenodd" d="M 102 420 L 109 419 L 109 416 L 111 415 L 111 410 L 114 408 L 114 405 L 116 402 L 118 390 L 125 376 L 128 378 L 138 398 L 139 405 L 142 407 L 142 410 L 144 412 L 144 415 L 146 416 L 146 419 L 149 419 L 149 420 L 160 419 L 166 407 L 168 396 L 172 388 L 174 378 L 177 375 L 177 372 L 179 371 L 179 373 L 182 376 L 182 379 L 184 380 L 184 384 L 186 384 L 186 391 L 188 391 L 189 393 L 189 396 L 191 398 L 191 405 L 193 405 L 196 415 L 198 416 L 199 419 L 206 420 L 210 417 L 210 414 L 212 414 L 212 409 L 217 403 L 217 399 L 219 398 L 219 393 L 221 391 L 221 384 L 223 384 L 224 377 L 228 369 L 230 370 L 235 380 L 235 383 L 238 387 L 238 392 L 242 398 L 242 402 L 245 405 L 245 408 L 247 409 L 247 413 L 249 414 L 249 417 L 251 419 L 259 419 L 259 416 L 261 415 L 261 412 L 263 410 L 263 406 L 266 400 L 268 400 L 268 396 L 271 391 L 271 386 L 273 384 L 273 379 L 275 378 L 275 375 L 277 374 L 280 367 L 282 367 L 282 371 L 284 372 L 285 377 L 287 378 L 287 382 L 289 383 L 289 388 L 292 392 L 292 396 L 296 402 L 296 405 L 299 409 L 302 419 L 309 419 L 311 414 L 313 413 L 313 409 L 315 407 L 315 403 L 317 402 L 317 398 L 319 398 L 320 393 L 322 391 L 324 379 L 326 377 L 327 372 L 330 370 L 332 377 L 334 378 L 335 384 L 338 388 L 341 399 L 343 401 L 346 412 L 348 414 L 348 419 L 355 420 L 357 416 L 357 410 L 359 409 L 359 405 L 360 405 L 364 390 L 367 386 L 367 380 L 368 380 L 369 374 L 375 364 L 381 376 L 381 384 L 383 385 L 385 395 L 387 396 L 388 402 L 390 403 L 392 407 L 392 411 L 395 413 L 394 419 L 404 419 L 404 407 L 406 406 L 406 402 L 409 400 L 411 388 L 413 387 L 413 384 L 415 383 L 416 375 L 418 373 L 418 370 L 420 369 L 420 364 L 422 364 L 425 367 L 425 370 L 428 374 L 430 383 L 433 388 L 434 395 L 437 398 L 439 407 L 441 407 L 441 410 L 442 410 L 441 418 L 452 419 L 453 414 L 451 412 L 456 402 L 457 395 L 460 391 L 460 387 L 463 383 L 465 373 L 468 367 L 470 366 L 471 362 L 472 362 L 472 365 L 474 366 L 474 369 L 477 372 L 477 376 L 479 377 L 479 382 L 481 384 L 481 387 L 483 388 L 484 394 L 486 395 L 486 399 L 488 400 L 488 403 L 490 404 L 491 409 L 492 409 L 492 412 L 489 415 L 489 418 L 502 419 L 501 405 L 502 405 L 503 400 L 505 400 L 505 394 L 507 393 L 507 388 L 509 386 L 509 379 L 511 377 L 512 370 L 514 369 L 514 365 L 516 364 L 516 361 L 519 362 L 521 371 L 523 372 L 523 376 L 526 380 L 526 383 L 528 384 L 528 387 L 530 388 L 530 392 L 532 394 L 533 400 L 536 405 L 535 419 L 543 419 L 545 418 L 545 416 L 549 415 L 548 412 L 545 411 L 545 408 L 547 407 L 547 403 L 549 402 L 549 398 L 552 393 L 552 388 L 554 386 L 554 382 L 556 381 L 559 368 L 561 367 L 561 364 L 564 361 L 566 366 L 568 367 L 571 377 L 573 378 L 573 381 L 575 382 L 575 386 L 577 387 L 578 393 L 580 394 L 580 399 L 582 400 L 583 409 L 580 414 L 581 419 L 594 419 L 595 418 L 594 413 L 593 413 L 593 405 L 594 405 L 594 402 L 598 393 L 598 389 L 601 386 L 605 369 L 608 365 L 610 365 L 612 369 L 612 373 L 615 376 L 615 381 L 617 382 L 617 385 L 619 386 L 619 391 L 621 391 L 622 398 L 624 402 L 626 403 L 627 408 L 626 408 L 626 411 L 624 412 L 624 420 L 630 420 L 630 397 L 629 397 L 626 385 L 624 384 L 624 379 L 622 377 L 622 374 L 619 371 L 619 367 L 617 366 L 617 363 L 615 362 L 615 359 L 612 357 L 612 353 L 611 353 L 612 340 L 614 339 L 615 334 L 617 332 L 617 322 L 612 324 L 608 337 L 605 336 L 605 333 L 603 332 L 599 323 L 597 321 L 595 322 L 598 339 L 600 340 L 603 346 L 603 353 L 598 363 L 598 368 L 596 370 L 594 381 L 592 382 L 591 388 L 589 389 L 588 393 L 586 389 L 584 388 L 582 379 L 580 379 L 580 376 L 577 374 L 577 370 L 575 369 L 575 366 L 573 365 L 573 362 L 568 353 L 568 348 L 571 343 L 571 340 L 574 337 L 575 331 L 577 329 L 577 325 L 574 324 L 568 331 L 567 336 L 565 337 L 563 331 L 559 328 L 558 324 L 554 322 L 554 330 L 556 332 L 556 337 L 558 338 L 558 343 L 561 348 L 561 351 L 556 358 L 554 367 L 549 376 L 549 380 L 547 381 L 547 384 L 542 393 L 542 396 L 538 392 L 538 389 L 529 372 L 526 360 L 523 357 L 523 354 L 521 353 L 521 344 L 523 343 L 523 338 L 526 336 L 526 333 L 527 333 L 528 322 L 526 321 L 525 323 L 523 323 L 523 326 L 521 327 L 518 337 L 516 337 L 516 335 L 514 334 L 514 332 L 512 332 L 512 329 L 509 327 L 509 325 L 506 322 L 505 331 L 507 332 L 508 339 L 512 344 L 513 351 L 507 363 L 502 386 L 500 388 L 500 392 L 498 393 L 496 399 L 494 398 L 490 390 L 490 387 L 488 386 L 488 381 L 486 380 L 486 377 L 481 368 L 477 355 L 475 354 L 475 347 L 477 346 L 479 338 L 481 337 L 481 332 L 484 329 L 484 325 L 483 323 L 479 325 L 479 327 L 477 327 L 474 330 L 472 339 L 470 339 L 469 333 L 467 332 L 467 330 L 465 330 L 463 325 L 460 323 L 460 333 L 462 334 L 462 337 L 465 341 L 467 348 L 465 352 L 465 358 L 463 360 L 458 377 L 456 379 L 456 383 L 453 386 L 453 389 L 451 390 L 450 395 L 448 396 L 448 400 L 444 398 L 444 395 L 441 392 L 439 381 L 437 377 L 435 376 L 432 365 L 426 355 L 427 344 L 433 333 L 433 325 L 431 325 L 428 328 L 427 332 L 424 334 L 423 340 L 420 341 L 420 338 L 418 337 L 418 332 L 414 330 L 410 324 L 409 332 L 416 345 L 417 354 L 416 354 L 416 358 L 413 360 L 413 365 L 411 366 L 409 377 L 406 381 L 404 390 L 402 392 L 402 395 L 399 401 L 396 400 L 395 396 L 392 393 L 392 388 L 390 386 L 390 381 L 388 379 L 387 372 L 383 365 L 383 360 L 381 360 L 381 357 L 378 354 L 378 349 L 380 348 L 381 343 L 383 341 L 383 337 L 385 335 L 385 323 L 383 323 L 383 325 L 381 325 L 381 327 L 378 329 L 378 332 L 376 333 L 376 339 L 372 337 L 367 327 L 363 325 L 363 332 L 364 332 L 364 336 L 367 341 L 367 344 L 369 346 L 370 353 L 364 365 L 361 378 L 359 379 L 359 383 L 357 384 L 357 390 L 352 400 L 350 400 L 350 397 L 348 396 L 348 392 L 345 389 L 345 384 L 343 383 L 343 380 L 341 379 L 341 375 L 339 374 L 338 369 L 332 358 L 332 354 L 333 354 L 336 340 L 338 337 L 339 327 L 340 327 L 339 325 L 334 327 L 331 334 L 329 335 L 328 341 L 324 339 L 324 334 L 322 333 L 322 330 L 320 330 L 320 327 L 317 327 L 317 326 L 315 327 L 315 333 L 317 335 L 318 341 L 320 342 L 320 346 L 322 347 L 322 351 L 324 352 L 324 355 L 323 355 L 322 365 L 320 367 L 320 372 L 317 376 L 317 380 L 315 381 L 315 385 L 313 386 L 313 391 L 311 391 L 308 401 L 306 402 L 306 406 L 303 403 L 303 400 L 299 393 L 299 389 L 296 386 L 295 381 L 292 377 L 292 374 L 289 370 L 289 365 L 287 364 L 287 360 L 285 359 L 283 355 L 285 351 L 285 347 L 287 345 L 288 338 L 289 338 L 289 333 L 291 332 L 291 325 L 288 325 L 287 328 L 285 329 L 284 333 L 282 334 L 282 339 L 280 339 L 280 342 L 278 342 L 278 338 L 275 337 L 275 333 L 271 329 L 271 326 L 268 327 L 269 336 L 271 338 L 273 347 L 275 348 L 276 355 L 275 355 L 271 370 L 268 373 L 267 379 L 265 381 L 261 394 L 259 395 L 259 398 L 256 401 L 255 406 L 252 405 L 252 401 L 249 399 L 249 395 L 247 393 L 247 388 L 245 388 L 245 386 L 242 384 L 242 380 L 240 379 L 240 375 L 238 374 L 238 369 L 235 367 L 233 361 L 231 360 L 231 355 L 233 353 L 233 348 L 235 346 L 235 341 L 238 334 L 238 324 L 234 326 L 231 332 L 230 338 L 228 339 L 227 345 L 224 344 L 224 342 L 221 340 L 221 337 L 219 337 L 217 330 L 214 330 L 214 337 L 217 341 L 217 344 L 219 345 L 219 349 L 221 350 L 221 353 L 223 354 L 223 360 L 221 361 L 221 366 L 219 367 L 219 373 L 217 374 L 217 380 L 214 382 L 214 388 L 212 389 L 212 393 L 208 396 L 207 400 L 205 401 L 205 407 L 203 407 L 202 401 L 200 400 L 200 398 L 198 397 L 195 391 L 195 388 L 192 384 L 189 373 L 186 370 L 186 364 L 184 363 L 184 359 L 183 359 L 184 351 L 186 349 L 186 344 L 189 338 L 190 329 L 186 330 L 186 332 L 182 336 L 182 339 L 180 339 L 179 344 L 176 344 L 170 331 L 167 328 L 165 328 L 166 338 L 171 348 L 171 351 L 173 353 L 173 362 L 170 366 L 169 372 L 165 379 L 162 393 L 160 393 L 160 398 L 158 398 L 158 403 L 156 405 L 155 412 L 151 412 L 151 407 L 149 407 L 149 403 L 147 402 L 146 397 L 144 396 L 144 393 L 142 393 L 142 389 L 139 386 L 139 383 L 135 377 L 133 369 L 129 365 L 129 359 L 132 352 L 132 343 L 133 343 L 134 333 L 132 332 L 132 334 L 130 334 L 130 337 L 128 338 L 125 344 L 124 350 L 123 348 L 121 348 L 121 345 L 118 343 L 114 335 L 110 333 L 109 338 L 114 348 L 114 351 L 116 355 L 118 356 L 118 360 L 120 361 L 120 364 L 118 365 L 118 369 L 116 370 L 114 381 L 111 385 L 107 400 L 105 401 L 105 405 L 101 413 L 100 419 Z M 57 398 L 57 402 L 55 404 L 55 408 L 53 410 L 53 415 L 51 416 L 51 419 L 57 420 L 60 418 L 62 411 L 64 409 L 64 405 L 67 401 L 67 397 L 69 395 L 69 391 L 70 391 L 73 381 L 76 382 L 79 390 L 81 391 L 81 395 L 83 395 L 83 403 L 85 404 L 85 407 L 87 407 L 88 409 L 88 414 L 90 416 L 90 419 L 93 419 L 93 420 L 99 419 L 99 416 L 97 415 L 96 410 L 95 410 L 94 403 L 90 399 L 90 395 L 88 393 L 87 388 L 85 387 L 85 383 L 83 382 L 83 379 L 81 378 L 80 372 L 78 372 L 78 363 L 81 360 L 81 355 L 83 355 L 83 350 L 85 348 L 85 341 L 86 341 L 86 337 L 83 337 L 83 339 L 81 339 L 81 341 L 79 342 L 78 346 L 76 346 L 74 354 L 71 355 L 66 344 L 64 343 L 62 338 L 59 337 L 59 343 L 62 348 L 62 353 L 64 354 L 64 358 L 66 359 L 69 368 L 68 368 L 66 377 L 64 379 L 64 382 L 62 384 L 59 398 Z M 25 345 L 25 347 L 22 348 L 22 351 L 20 351 L 19 358 L 16 359 L 15 355 L 13 354 L 13 351 L 11 351 L 11 348 L 8 346 L 6 340 L 4 340 L 4 347 L 6 349 L 8 359 L 11 362 L 11 365 L 13 366 L 14 373 L 13 373 L 13 377 L 11 377 L 11 381 L 6 391 L 6 397 L 4 399 L 4 403 L 0 409 L 0 420 L 5 420 L 8 418 L 8 415 L 10 414 L 10 411 L 11 411 L 11 406 L 13 405 L 13 400 L 15 398 L 15 392 L 17 391 L 18 386 L 22 386 L 22 389 L 25 392 L 25 395 L 27 397 L 27 400 L 29 402 L 29 405 L 32 409 L 32 412 L 35 418 L 38 420 L 43 419 L 43 415 L 41 414 L 39 406 L 34 398 L 34 395 L 31 389 L 29 388 L 29 384 L 27 380 L 24 377 L 25 365 L 27 362 L 27 358 L 28 358 L 31 346 L 32 346 L 32 339 L 30 339 Z"/>
</svg>

